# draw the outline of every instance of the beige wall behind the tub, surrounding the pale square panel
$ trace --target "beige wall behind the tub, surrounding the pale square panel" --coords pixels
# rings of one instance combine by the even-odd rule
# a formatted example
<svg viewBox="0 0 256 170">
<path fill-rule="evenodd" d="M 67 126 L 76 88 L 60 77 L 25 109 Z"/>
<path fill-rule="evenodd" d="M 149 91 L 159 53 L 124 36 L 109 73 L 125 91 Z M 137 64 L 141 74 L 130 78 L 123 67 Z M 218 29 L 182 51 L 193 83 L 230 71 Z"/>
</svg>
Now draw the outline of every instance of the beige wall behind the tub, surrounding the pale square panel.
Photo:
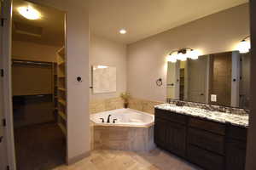
<svg viewBox="0 0 256 170">
<path fill-rule="evenodd" d="M 90 99 L 109 99 L 119 97 L 126 91 L 126 45 L 113 42 L 96 35 L 90 36 L 90 66 L 108 65 L 115 66 L 117 73 L 117 90 L 115 93 L 93 94 L 90 90 Z M 91 71 L 91 69 L 90 69 Z M 91 73 L 90 73 L 91 77 Z M 90 83 L 91 84 L 91 83 Z"/>
</svg>

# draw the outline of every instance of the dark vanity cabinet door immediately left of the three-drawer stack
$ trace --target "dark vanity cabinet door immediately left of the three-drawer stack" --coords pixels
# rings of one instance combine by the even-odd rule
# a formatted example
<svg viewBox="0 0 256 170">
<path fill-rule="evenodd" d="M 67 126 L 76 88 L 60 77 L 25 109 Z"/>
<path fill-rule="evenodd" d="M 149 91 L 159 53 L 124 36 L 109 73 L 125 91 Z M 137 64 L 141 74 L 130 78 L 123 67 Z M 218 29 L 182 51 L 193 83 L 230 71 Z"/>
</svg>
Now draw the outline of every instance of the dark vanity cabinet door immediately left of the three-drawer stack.
<svg viewBox="0 0 256 170">
<path fill-rule="evenodd" d="M 185 156 L 186 149 L 186 127 L 169 122 L 166 126 L 166 145 L 167 150 L 179 156 Z"/>
</svg>

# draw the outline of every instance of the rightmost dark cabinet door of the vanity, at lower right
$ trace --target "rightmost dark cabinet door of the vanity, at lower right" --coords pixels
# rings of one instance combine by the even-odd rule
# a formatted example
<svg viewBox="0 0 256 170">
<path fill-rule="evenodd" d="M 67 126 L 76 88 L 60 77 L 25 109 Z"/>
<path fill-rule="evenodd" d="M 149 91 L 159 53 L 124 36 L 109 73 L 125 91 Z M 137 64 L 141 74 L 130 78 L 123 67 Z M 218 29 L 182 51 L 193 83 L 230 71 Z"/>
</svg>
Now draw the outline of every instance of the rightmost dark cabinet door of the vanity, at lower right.
<svg viewBox="0 0 256 170">
<path fill-rule="evenodd" d="M 226 170 L 244 170 L 246 143 L 229 139 L 226 144 Z"/>
</svg>

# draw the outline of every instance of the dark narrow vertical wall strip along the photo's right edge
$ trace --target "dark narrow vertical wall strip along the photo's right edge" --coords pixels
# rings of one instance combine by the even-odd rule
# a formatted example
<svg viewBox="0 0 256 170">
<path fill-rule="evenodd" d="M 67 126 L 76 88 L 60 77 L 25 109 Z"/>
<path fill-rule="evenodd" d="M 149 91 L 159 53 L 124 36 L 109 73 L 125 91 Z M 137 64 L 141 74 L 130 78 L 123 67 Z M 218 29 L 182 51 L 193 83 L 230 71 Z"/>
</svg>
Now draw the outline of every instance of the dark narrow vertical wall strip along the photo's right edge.
<svg viewBox="0 0 256 170">
<path fill-rule="evenodd" d="M 251 87 L 256 87 L 256 1 L 251 0 Z M 251 88 L 251 113 L 249 120 L 249 130 L 247 137 L 247 161 L 246 169 L 254 170 L 256 169 L 256 89 Z"/>
</svg>

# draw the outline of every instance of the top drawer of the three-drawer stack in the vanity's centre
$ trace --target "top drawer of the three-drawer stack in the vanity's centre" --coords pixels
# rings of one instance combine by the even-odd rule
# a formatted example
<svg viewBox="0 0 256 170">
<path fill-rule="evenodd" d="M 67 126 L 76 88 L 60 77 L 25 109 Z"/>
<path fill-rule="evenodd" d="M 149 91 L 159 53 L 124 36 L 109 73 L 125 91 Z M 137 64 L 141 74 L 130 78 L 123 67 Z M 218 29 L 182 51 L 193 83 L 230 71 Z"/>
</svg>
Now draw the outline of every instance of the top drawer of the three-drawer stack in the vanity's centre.
<svg viewBox="0 0 256 170">
<path fill-rule="evenodd" d="M 225 134 L 225 124 L 218 122 L 205 121 L 200 118 L 189 118 L 189 127 L 201 128 L 212 133 Z"/>
</svg>

